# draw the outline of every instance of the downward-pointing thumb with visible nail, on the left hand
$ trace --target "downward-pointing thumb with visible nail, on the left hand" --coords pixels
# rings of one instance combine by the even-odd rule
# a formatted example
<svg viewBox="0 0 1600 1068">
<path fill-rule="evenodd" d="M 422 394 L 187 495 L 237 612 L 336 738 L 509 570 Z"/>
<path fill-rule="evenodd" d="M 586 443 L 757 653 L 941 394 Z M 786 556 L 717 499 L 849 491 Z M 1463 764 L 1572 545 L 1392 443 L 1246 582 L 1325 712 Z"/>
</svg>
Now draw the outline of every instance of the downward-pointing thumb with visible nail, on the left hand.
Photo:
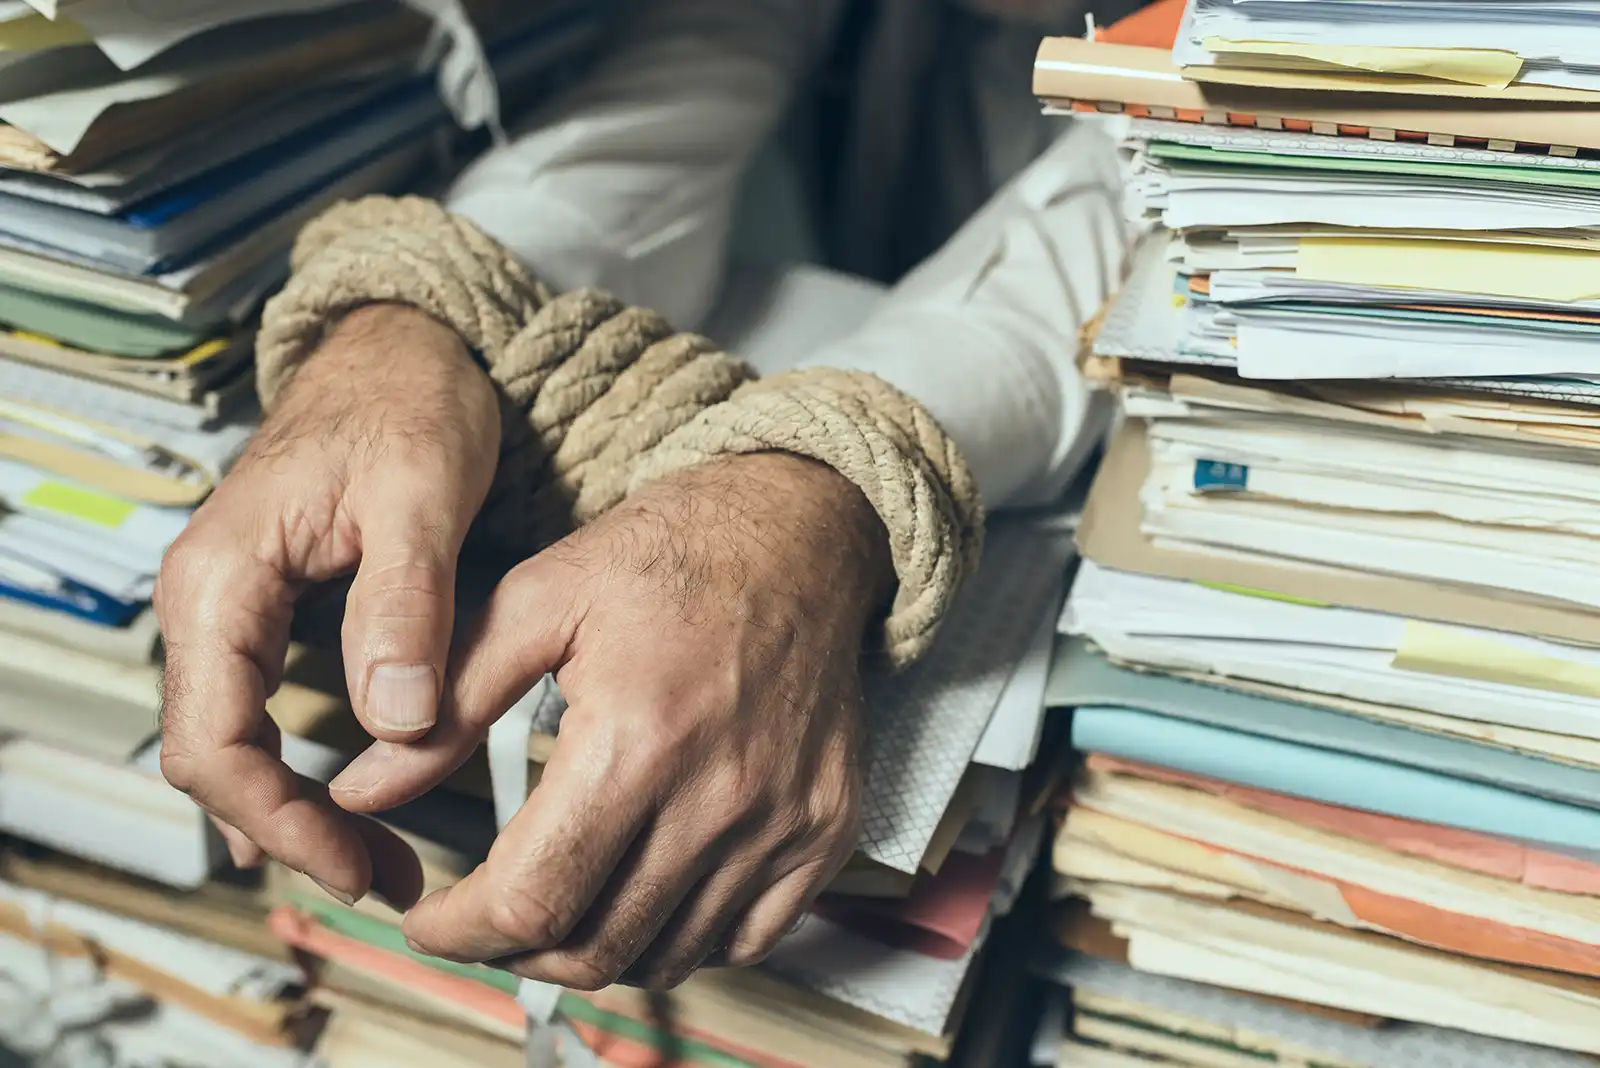
<svg viewBox="0 0 1600 1068">
<path fill-rule="evenodd" d="M 408 742 L 438 721 L 466 523 L 442 523 L 450 504 L 432 494 L 384 492 L 363 505 L 362 563 L 344 608 L 346 683 L 368 734 Z"/>
</svg>

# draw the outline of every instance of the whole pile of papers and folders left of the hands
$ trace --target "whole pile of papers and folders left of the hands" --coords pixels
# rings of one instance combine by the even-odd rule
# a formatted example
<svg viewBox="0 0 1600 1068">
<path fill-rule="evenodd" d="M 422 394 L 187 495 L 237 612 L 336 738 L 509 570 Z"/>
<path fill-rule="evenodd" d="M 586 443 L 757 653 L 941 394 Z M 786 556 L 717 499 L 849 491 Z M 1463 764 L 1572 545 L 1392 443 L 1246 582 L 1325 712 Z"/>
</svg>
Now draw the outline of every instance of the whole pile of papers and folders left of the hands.
<svg viewBox="0 0 1600 1068">
<path fill-rule="evenodd" d="M 469 5 L 504 99 L 581 58 L 589 6 Z M 298 229 L 462 144 L 430 35 L 387 0 L 0 5 L 0 1046 L 302 1063 L 304 969 L 157 769 L 149 603 L 254 430 Z"/>
</svg>

